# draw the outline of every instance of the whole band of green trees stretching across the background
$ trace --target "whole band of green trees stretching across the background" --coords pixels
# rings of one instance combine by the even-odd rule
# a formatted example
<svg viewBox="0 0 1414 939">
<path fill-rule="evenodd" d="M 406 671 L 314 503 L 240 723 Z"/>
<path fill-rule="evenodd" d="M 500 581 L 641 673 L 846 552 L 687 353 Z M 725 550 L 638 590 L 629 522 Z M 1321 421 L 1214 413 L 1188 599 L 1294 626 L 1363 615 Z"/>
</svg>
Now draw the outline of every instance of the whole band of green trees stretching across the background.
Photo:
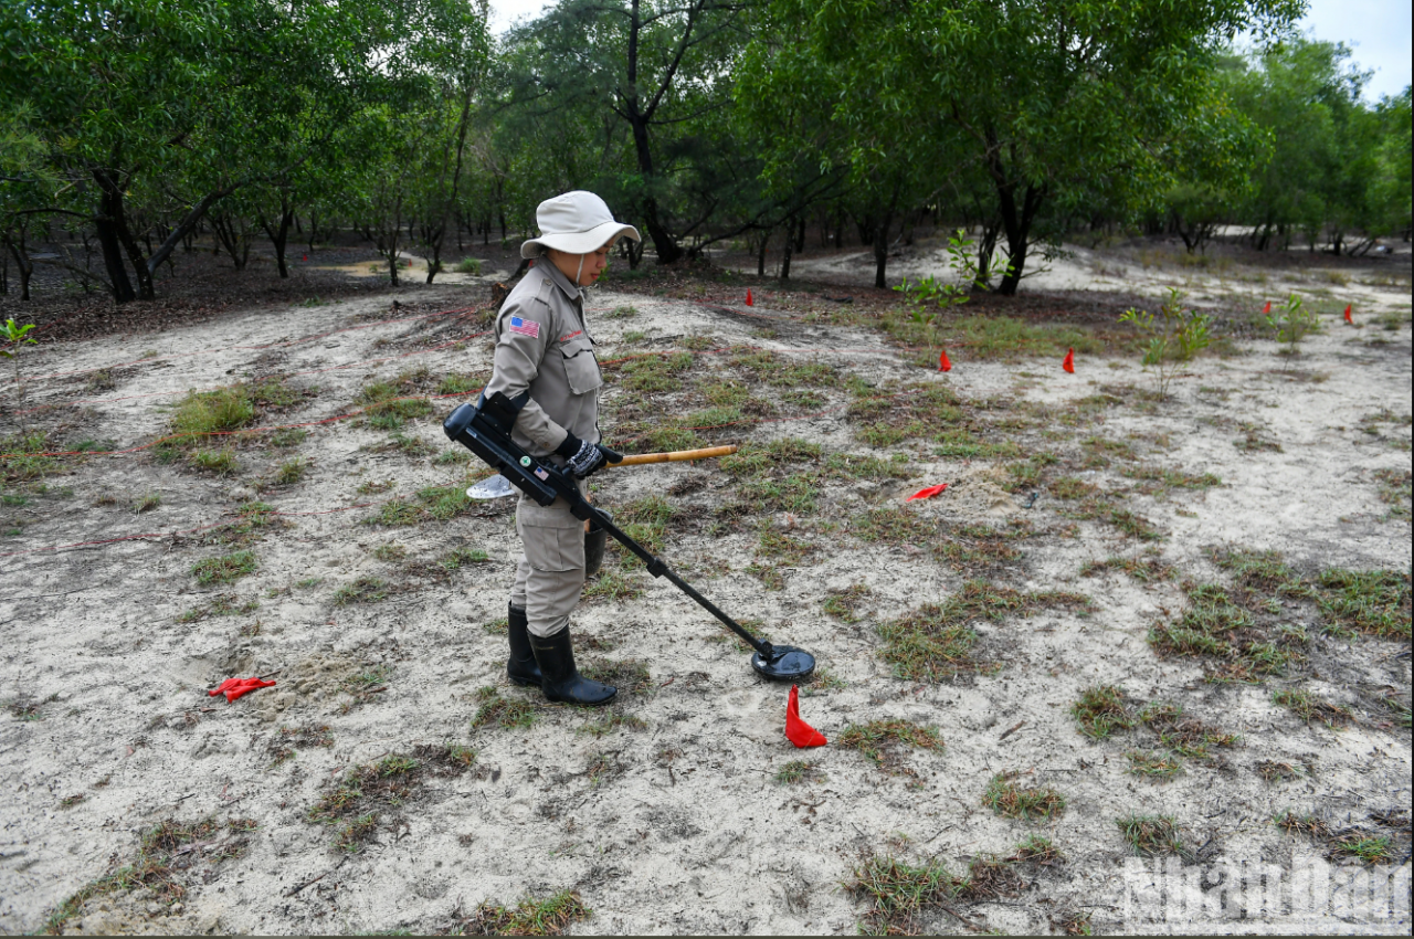
<svg viewBox="0 0 1414 939">
<path fill-rule="evenodd" d="M 1410 228 L 1408 89 L 1366 102 L 1302 10 L 561 0 L 498 40 L 485 0 L 25 0 L 0 6 L 0 240 L 27 286 L 28 246 L 82 229 L 102 266 L 58 263 L 117 303 L 198 228 L 238 267 L 263 233 L 283 274 L 300 219 L 431 279 L 448 235 L 529 233 L 570 188 L 645 231 L 631 264 L 769 242 L 785 274 L 807 222 L 839 246 L 848 221 L 880 286 L 919 219 L 978 225 L 1001 293 L 1100 225 L 1369 250 Z"/>
</svg>

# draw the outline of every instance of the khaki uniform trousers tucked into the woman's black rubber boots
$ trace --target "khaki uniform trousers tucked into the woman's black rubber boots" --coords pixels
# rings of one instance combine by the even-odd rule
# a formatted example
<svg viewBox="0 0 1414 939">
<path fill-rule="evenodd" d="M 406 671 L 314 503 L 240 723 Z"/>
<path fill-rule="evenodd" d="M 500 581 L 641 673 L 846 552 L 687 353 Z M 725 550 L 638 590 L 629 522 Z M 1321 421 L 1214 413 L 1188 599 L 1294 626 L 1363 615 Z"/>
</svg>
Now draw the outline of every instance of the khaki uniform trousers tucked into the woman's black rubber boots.
<svg viewBox="0 0 1414 939">
<path fill-rule="evenodd" d="M 584 481 L 578 481 L 580 492 Z M 570 625 L 570 612 L 584 588 L 584 520 L 570 503 L 539 505 L 522 495 L 516 505 L 516 533 L 523 553 L 510 585 L 510 605 L 526 611 L 530 635 L 553 636 Z"/>
</svg>

